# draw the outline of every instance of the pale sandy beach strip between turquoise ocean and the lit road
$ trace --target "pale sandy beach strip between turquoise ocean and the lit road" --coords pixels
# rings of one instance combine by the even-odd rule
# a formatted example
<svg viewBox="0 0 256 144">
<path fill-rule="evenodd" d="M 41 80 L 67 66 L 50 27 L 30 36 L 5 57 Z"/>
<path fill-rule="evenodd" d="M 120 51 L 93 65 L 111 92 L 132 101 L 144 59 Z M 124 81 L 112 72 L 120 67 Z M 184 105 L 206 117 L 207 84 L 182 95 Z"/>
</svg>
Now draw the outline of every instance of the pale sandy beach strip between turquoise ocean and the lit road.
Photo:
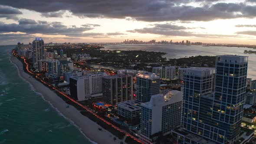
<svg viewBox="0 0 256 144">
<path fill-rule="evenodd" d="M 23 64 L 13 55 L 11 56 L 11 61 L 18 67 L 18 72 L 20 76 L 30 83 L 36 92 L 39 92 L 43 95 L 43 98 L 46 101 L 49 101 L 54 108 L 60 111 L 66 118 L 69 118 L 75 123 L 91 141 L 95 141 L 98 144 L 119 144 L 121 140 L 118 139 L 114 141 L 113 134 L 105 130 L 94 121 L 91 121 L 89 118 L 80 114 L 80 111 L 77 110 L 72 105 L 69 108 L 66 108 L 66 102 L 59 98 L 55 92 L 44 86 L 42 83 L 38 82 L 34 78 L 30 78 L 30 75 L 23 71 Z M 99 131 L 98 128 L 102 128 L 102 131 Z M 122 140 L 124 142 L 124 140 Z M 124 142 L 125 144 L 125 142 Z"/>
</svg>

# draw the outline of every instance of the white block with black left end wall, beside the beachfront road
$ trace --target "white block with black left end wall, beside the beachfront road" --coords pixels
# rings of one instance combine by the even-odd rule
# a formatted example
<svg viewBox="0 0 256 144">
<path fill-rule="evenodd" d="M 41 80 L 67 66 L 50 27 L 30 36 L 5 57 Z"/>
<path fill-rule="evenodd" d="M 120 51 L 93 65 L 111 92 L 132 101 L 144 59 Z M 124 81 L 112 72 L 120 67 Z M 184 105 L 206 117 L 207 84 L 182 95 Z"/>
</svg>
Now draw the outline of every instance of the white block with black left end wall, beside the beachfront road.
<svg viewBox="0 0 256 144">
<path fill-rule="evenodd" d="M 69 79 L 70 95 L 78 101 L 102 97 L 103 72 L 91 73 Z"/>
</svg>

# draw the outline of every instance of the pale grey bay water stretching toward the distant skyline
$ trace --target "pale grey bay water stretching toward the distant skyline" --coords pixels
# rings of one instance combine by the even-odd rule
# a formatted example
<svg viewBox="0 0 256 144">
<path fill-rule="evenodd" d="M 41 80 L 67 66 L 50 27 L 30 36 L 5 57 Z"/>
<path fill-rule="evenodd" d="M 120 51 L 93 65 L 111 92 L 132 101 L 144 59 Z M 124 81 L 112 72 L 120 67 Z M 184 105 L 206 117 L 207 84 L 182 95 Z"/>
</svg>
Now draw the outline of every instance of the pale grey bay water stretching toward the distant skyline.
<svg viewBox="0 0 256 144">
<path fill-rule="evenodd" d="M 163 57 L 167 59 L 184 58 L 185 56 L 217 56 L 238 55 L 249 56 L 247 78 L 256 79 L 256 54 L 243 53 L 249 48 L 226 47 L 226 46 L 186 46 L 186 45 L 108 45 L 102 50 L 144 50 L 149 52 L 166 52 Z"/>
</svg>

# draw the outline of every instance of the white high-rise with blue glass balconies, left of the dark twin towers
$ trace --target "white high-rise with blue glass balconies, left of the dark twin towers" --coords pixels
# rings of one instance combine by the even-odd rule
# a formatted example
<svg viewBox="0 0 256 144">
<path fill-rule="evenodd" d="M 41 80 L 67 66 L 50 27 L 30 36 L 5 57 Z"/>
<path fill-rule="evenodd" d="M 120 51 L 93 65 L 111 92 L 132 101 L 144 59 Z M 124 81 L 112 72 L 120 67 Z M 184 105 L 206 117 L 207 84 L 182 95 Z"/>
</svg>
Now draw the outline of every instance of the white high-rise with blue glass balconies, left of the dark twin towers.
<svg viewBox="0 0 256 144">
<path fill-rule="evenodd" d="M 152 95 L 149 102 L 141 104 L 141 135 L 164 135 L 181 125 L 182 92 L 171 91 L 169 95 Z"/>
</svg>

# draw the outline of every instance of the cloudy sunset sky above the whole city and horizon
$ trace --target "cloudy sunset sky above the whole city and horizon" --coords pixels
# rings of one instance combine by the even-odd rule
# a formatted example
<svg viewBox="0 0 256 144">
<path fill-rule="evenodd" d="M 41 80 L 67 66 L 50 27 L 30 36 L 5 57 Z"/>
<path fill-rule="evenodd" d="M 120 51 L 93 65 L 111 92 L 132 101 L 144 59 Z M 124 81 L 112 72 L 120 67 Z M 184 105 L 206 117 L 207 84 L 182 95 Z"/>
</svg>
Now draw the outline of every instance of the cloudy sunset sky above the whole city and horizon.
<svg viewBox="0 0 256 144">
<path fill-rule="evenodd" d="M 256 45 L 256 0 L 0 0 L 0 45 L 35 37 Z"/>
</svg>

